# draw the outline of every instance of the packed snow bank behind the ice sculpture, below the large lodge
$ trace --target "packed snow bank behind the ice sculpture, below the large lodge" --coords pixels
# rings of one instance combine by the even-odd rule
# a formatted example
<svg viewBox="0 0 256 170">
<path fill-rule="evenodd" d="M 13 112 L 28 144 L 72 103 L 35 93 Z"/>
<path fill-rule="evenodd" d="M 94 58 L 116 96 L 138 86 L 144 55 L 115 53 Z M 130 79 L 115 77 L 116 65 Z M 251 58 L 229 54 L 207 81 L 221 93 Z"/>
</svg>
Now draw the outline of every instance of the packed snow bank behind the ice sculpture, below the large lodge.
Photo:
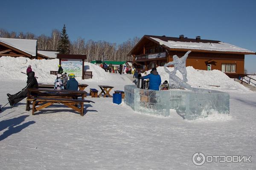
<svg viewBox="0 0 256 170">
<path fill-rule="evenodd" d="M 173 71 L 173 67 L 168 68 L 170 71 Z M 219 70 L 197 70 L 192 66 L 186 67 L 188 84 L 194 88 L 205 88 L 212 90 L 220 90 L 225 92 L 235 92 L 235 93 L 250 93 L 251 91 L 248 88 L 245 88 L 240 83 L 234 81 L 227 77 L 226 74 Z M 169 82 L 169 74 L 166 73 L 164 67 L 157 67 L 157 72 L 161 76 L 162 83 L 167 80 Z M 147 71 L 147 74 L 150 74 L 150 71 Z M 142 74 L 144 76 L 144 74 Z M 182 74 L 177 71 L 176 76 L 180 79 Z"/>
</svg>

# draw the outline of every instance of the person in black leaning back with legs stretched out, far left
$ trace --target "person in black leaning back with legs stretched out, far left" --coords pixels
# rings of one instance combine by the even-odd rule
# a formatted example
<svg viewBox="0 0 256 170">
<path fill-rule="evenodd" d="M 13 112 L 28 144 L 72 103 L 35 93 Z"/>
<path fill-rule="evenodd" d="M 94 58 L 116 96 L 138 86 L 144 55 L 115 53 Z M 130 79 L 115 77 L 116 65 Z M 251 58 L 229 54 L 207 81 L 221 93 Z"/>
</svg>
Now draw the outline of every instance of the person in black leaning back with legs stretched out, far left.
<svg viewBox="0 0 256 170">
<path fill-rule="evenodd" d="M 16 94 L 7 94 L 8 96 L 8 101 L 11 106 L 17 104 L 21 100 L 25 99 L 27 97 L 27 88 L 38 88 L 38 82 L 35 79 L 35 72 L 31 71 L 27 74 L 28 79 L 27 79 L 27 85 L 25 88 L 23 88 L 21 91 L 19 91 Z"/>
</svg>

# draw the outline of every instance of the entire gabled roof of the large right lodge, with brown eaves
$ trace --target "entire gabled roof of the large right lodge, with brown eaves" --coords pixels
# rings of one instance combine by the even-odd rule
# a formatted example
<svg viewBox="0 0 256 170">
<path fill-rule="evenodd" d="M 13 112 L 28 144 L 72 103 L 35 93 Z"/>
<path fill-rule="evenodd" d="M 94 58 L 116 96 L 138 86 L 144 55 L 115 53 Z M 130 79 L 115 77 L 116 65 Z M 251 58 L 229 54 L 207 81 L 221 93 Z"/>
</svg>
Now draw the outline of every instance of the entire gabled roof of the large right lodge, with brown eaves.
<svg viewBox="0 0 256 170">
<path fill-rule="evenodd" d="M 154 36 L 144 35 L 141 40 L 131 49 L 127 56 L 131 56 L 141 43 L 147 40 L 153 41 L 159 45 L 163 45 L 166 49 L 172 51 L 202 51 L 202 52 L 223 52 L 231 54 L 256 54 L 254 51 L 240 48 L 226 42 L 215 41 L 215 40 L 196 40 L 191 38 L 177 38 L 177 37 L 165 37 L 165 36 Z"/>
</svg>

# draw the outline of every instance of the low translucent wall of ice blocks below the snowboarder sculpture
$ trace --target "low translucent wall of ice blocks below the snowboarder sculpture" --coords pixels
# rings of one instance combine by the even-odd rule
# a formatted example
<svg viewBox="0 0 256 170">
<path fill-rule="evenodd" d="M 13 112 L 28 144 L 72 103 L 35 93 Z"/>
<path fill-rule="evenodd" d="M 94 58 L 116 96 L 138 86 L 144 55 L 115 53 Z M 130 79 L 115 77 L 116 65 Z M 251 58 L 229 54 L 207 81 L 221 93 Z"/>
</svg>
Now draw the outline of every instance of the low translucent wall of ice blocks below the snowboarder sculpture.
<svg viewBox="0 0 256 170">
<path fill-rule="evenodd" d="M 125 85 L 125 103 L 134 111 L 169 116 L 170 109 L 184 119 L 229 114 L 229 94 L 207 89 L 153 91 Z"/>
</svg>

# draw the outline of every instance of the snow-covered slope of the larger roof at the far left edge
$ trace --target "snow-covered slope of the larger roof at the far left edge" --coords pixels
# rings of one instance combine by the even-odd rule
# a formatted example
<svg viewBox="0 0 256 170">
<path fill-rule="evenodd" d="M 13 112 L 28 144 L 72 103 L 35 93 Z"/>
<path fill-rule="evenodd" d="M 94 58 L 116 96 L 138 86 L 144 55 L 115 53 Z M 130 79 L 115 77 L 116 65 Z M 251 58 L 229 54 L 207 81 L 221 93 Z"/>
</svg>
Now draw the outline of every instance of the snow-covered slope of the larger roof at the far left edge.
<svg viewBox="0 0 256 170">
<path fill-rule="evenodd" d="M 20 51 L 23 51 L 32 56 L 36 56 L 37 40 L 15 39 L 15 38 L 0 38 L 0 42 L 12 46 Z"/>
</svg>

